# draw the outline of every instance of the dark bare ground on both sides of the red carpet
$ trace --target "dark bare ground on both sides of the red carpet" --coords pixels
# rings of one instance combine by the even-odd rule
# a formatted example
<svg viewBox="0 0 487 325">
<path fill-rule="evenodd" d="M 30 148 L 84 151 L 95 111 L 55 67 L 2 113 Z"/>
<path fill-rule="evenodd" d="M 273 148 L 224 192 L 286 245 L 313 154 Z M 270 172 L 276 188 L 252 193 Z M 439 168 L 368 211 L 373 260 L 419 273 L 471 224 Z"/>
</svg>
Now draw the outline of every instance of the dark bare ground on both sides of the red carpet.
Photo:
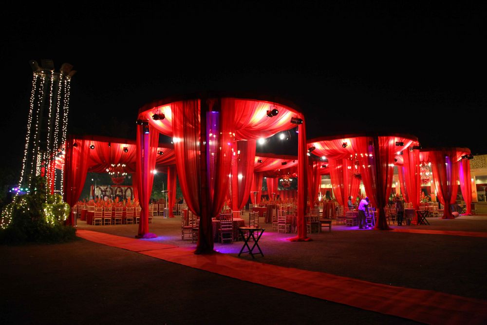
<svg viewBox="0 0 487 325">
<path fill-rule="evenodd" d="M 487 232 L 487 216 L 429 219 L 439 229 Z M 289 242 L 294 234 L 266 228 L 255 263 L 314 270 L 399 287 L 487 300 L 487 238 L 355 230 L 333 224 Z M 134 237 L 137 225 L 79 229 Z M 181 240 L 179 217 L 155 217 L 160 241 Z M 351 230 L 352 229 L 352 230 Z M 242 242 L 215 243 L 237 256 Z M 406 324 L 410 320 L 264 287 L 83 239 L 56 245 L 0 247 L 1 324 Z M 251 260 L 249 255 L 243 259 Z"/>
</svg>

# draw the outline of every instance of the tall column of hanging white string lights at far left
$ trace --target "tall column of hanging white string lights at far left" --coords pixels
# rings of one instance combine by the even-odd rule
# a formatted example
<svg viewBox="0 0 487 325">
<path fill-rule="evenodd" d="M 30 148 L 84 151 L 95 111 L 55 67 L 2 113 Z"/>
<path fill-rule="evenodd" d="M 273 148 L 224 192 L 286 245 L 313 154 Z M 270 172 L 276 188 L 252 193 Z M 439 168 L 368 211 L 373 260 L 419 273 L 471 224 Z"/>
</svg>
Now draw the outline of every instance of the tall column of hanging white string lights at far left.
<svg viewBox="0 0 487 325">
<path fill-rule="evenodd" d="M 33 70 L 32 91 L 27 119 L 22 169 L 17 193 L 30 192 L 34 176 L 46 177 L 46 190 L 55 191 L 56 157 L 63 153 L 69 113 L 70 81 L 75 74 L 73 66 L 64 63 L 54 71 L 52 60 L 29 62 Z M 63 174 L 60 188 L 62 193 Z"/>
</svg>

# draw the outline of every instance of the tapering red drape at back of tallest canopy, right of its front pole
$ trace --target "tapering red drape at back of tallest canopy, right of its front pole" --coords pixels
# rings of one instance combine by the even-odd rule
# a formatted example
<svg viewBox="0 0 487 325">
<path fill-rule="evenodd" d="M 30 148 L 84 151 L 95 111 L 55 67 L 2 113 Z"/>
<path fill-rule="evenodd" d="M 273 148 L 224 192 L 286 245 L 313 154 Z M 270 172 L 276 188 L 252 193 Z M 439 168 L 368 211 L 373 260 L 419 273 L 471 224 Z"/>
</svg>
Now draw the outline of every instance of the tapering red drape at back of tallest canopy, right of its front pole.
<svg viewBox="0 0 487 325">
<path fill-rule="evenodd" d="M 237 152 L 234 152 L 235 158 L 232 162 L 232 209 L 237 211 L 244 207 L 250 195 L 254 176 L 256 140 L 236 141 L 236 143 Z"/>
</svg>

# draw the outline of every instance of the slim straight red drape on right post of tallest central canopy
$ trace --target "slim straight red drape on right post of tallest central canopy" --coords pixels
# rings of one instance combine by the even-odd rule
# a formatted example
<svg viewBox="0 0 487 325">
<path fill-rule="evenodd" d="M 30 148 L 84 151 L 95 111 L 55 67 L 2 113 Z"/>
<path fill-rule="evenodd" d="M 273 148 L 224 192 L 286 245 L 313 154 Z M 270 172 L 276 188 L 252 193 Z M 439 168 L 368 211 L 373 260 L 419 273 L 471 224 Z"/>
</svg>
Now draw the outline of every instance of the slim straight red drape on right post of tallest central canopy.
<svg viewBox="0 0 487 325">
<path fill-rule="evenodd" d="M 301 117 L 304 120 L 304 116 Z M 298 126 L 298 236 L 290 238 L 291 241 L 309 241 L 306 236 L 306 201 L 308 196 L 308 148 L 306 145 L 306 128 L 302 123 Z"/>
</svg>

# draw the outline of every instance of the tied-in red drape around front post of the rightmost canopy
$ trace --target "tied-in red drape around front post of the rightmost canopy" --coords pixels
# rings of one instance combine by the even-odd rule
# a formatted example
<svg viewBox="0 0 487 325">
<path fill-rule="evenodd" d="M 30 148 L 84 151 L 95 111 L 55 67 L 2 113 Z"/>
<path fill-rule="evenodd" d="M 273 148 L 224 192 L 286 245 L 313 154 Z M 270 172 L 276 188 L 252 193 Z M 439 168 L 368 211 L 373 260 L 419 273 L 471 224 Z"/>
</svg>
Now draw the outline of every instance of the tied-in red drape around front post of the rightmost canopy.
<svg viewBox="0 0 487 325">
<path fill-rule="evenodd" d="M 430 151 L 431 169 L 433 181 L 436 187 L 436 195 L 444 205 L 443 219 L 454 219 L 451 214 L 450 204 L 455 203 L 458 191 L 458 162 L 456 150 L 444 149 Z"/>
</svg>

